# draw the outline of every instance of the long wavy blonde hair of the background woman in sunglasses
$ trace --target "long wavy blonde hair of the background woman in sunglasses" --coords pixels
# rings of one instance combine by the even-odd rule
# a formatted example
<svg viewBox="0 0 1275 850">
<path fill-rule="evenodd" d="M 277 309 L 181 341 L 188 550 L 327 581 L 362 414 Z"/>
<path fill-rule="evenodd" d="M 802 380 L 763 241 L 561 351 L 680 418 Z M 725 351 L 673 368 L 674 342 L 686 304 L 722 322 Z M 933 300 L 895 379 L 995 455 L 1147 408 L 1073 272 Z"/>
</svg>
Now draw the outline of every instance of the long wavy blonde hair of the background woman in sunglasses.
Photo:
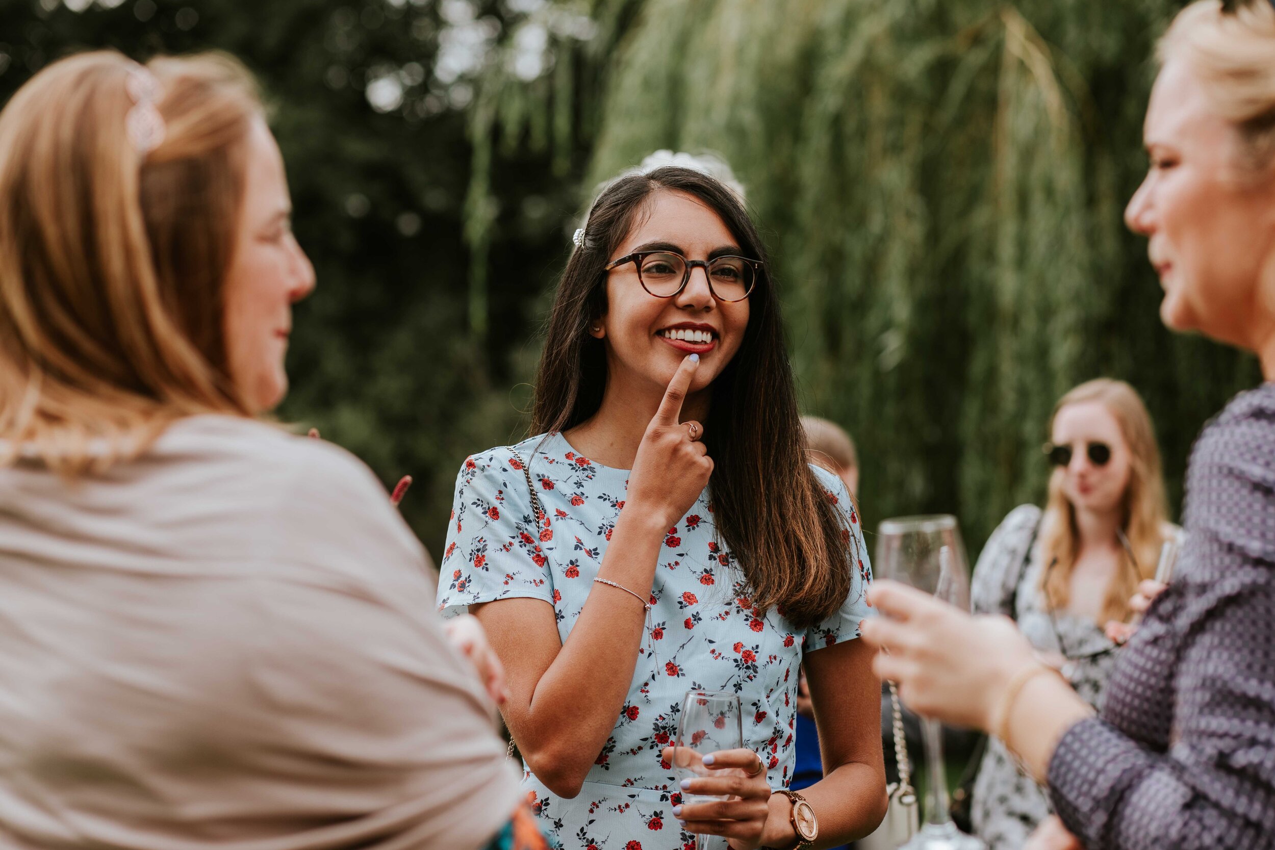
<svg viewBox="0 0 1275 850">
<path fill-rule="evenodd" d="M 1131 454 L 1121 529 L 1128 538 L 1136 570 L 1122 565 L 1112 576 L 1098 622 L 1123 621 L 1128 617 L 1128 600 L 1137 582 L 1155 575 L 1160 547 L 1167 539 L 1168 530 L 1172 529 L 1168 524 L 1160 449 L 1155 442 L 1151 417 L 1141 396 L 1125 381 L 1111 378 L 1086 381 L 1058 399 L 1053 415 L 1049 417 L 1049 431 L 1053 431 L 1053 422 L 1058 418 L 1060 410 L 1082 401 L 1096 401 L 1111 412 L 1119 423 Z M 1066 470 L 1062 468 L 1054 469 L 1049 477 L 1049 501 L 1040 525 L 1042 563 L 1053 565 L 1053 568 L 1046 570 L 1042 575 L 1042 590 L 1049 607 L 1056 610 L 1066 608 L 1071 599 L 1071 572 L 1076 566 L 1080 547 L 1076 511 L 1062 492 L 1065 478 Z"/>
</svg>

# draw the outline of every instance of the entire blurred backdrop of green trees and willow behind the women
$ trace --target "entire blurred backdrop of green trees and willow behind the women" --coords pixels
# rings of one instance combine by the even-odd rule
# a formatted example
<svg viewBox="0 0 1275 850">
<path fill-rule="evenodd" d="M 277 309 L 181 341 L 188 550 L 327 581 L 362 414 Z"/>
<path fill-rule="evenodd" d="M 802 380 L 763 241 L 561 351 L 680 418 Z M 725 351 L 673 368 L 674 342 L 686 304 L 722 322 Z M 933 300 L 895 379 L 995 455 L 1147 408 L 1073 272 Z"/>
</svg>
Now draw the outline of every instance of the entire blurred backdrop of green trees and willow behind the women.
<svg viewBox="0 0 1275 850">
<path fill-rule="evenodd" d="M 1040 501 L 1054 400 L 1146 398 L 1174 511 L 1255 361 L 1159 324 L 1121 212 L 1178 0 L 0 0 L 0 98 L 73 51 L 226 50 L 259 76 L 319 274 L 288 421 L 416 486 L 525 433 L 593 186 L 713 150 L 775 259 L 811 413 L 859 443 L 868 528 L 951 511 L 972 554 Z"/>
</svg>

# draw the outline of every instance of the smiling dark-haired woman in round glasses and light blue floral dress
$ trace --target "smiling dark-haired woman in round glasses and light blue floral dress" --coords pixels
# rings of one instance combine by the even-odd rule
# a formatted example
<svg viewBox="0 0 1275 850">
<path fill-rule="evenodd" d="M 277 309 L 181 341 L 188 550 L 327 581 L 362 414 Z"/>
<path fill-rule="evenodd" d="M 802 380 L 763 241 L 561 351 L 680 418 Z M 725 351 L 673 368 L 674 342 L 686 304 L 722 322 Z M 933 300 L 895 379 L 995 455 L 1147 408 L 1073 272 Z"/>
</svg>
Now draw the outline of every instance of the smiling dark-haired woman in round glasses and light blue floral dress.
<svg viewBox="0 0 1275 850">
<path fill-rule="evenodd" d="M 538 436 L 465 461 L 439 589 L 506 668 L 523 788 L 569 850 L 862 836 L 885 813 L 852 640 L 867 553 L 844 484 L 807 463 L 756 228 L 714 177 L 660 167 L 607 186 L 575 242 Z M 826 775 L 789 794 L 803 660 Z M 743 747 L 680 782 L 688 689 L 738 695 Z"/>
</svg>

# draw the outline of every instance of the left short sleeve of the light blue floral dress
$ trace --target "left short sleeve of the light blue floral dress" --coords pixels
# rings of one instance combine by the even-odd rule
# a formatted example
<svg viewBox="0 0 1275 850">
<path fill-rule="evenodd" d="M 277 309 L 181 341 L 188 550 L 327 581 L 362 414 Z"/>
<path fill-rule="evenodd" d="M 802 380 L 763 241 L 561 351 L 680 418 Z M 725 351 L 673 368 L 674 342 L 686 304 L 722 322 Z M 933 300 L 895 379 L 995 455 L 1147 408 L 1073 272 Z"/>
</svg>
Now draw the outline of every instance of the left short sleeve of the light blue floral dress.
<svg viewBox="0 0 1275 850">
<path fill-rule="evenodd" d="M 439 568 L 439 610 L 455 617 L 497 599 L 553 604 L 553 577 L 519 457 L 492 449 L 468 457 L 456 475 Z"/>
</svg>

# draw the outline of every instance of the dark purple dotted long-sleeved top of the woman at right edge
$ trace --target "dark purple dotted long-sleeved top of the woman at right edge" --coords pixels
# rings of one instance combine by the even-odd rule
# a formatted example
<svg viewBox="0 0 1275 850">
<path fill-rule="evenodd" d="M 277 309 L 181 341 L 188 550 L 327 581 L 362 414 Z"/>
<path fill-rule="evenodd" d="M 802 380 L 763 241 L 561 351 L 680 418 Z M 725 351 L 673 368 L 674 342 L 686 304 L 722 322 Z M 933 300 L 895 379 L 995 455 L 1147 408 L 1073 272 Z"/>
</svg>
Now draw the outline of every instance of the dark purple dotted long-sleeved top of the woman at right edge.
<svg viewBox="0 0 1275 850">
<path fill-rule="evenodd" d="M 1049 765 L 1085 847 L 1275 847 L 1275 384 L 1237 396 L 1187 475 L 1177 576 L 1098 717 Z"/>
</svg>

